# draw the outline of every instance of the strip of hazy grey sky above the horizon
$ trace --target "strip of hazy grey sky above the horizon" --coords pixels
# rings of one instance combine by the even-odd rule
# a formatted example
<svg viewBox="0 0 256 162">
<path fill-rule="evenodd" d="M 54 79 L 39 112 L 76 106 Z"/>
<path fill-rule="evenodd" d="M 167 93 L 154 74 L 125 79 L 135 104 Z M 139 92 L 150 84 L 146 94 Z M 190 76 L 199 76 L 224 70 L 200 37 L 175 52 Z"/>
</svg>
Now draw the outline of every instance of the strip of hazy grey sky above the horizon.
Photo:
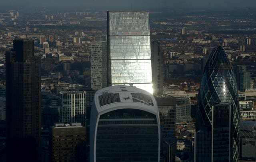
<svg viewBox="0 0 256 162">
<path fill-rule="evenodd" d="M 160 7 L 256 7 L 256 0 L 1 0 L 1 5 L 27 6 L 91 6 L 122 8 Z"/>
</svg>

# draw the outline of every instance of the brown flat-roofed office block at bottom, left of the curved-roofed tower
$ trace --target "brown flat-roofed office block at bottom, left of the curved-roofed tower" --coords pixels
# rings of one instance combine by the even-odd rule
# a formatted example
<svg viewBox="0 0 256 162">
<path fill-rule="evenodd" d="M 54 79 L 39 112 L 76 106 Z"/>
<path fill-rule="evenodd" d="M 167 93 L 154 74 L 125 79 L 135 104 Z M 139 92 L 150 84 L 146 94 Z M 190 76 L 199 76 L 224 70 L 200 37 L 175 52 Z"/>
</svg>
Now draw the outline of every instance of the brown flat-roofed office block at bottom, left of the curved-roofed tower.
<svg viewBox="0 0 256 162">
<path fill-rule="evenodd" d="M 50 162 L 86 161 L 86 127 L 81 123 L 54 124 L 50 128 Z"/>
</svg>

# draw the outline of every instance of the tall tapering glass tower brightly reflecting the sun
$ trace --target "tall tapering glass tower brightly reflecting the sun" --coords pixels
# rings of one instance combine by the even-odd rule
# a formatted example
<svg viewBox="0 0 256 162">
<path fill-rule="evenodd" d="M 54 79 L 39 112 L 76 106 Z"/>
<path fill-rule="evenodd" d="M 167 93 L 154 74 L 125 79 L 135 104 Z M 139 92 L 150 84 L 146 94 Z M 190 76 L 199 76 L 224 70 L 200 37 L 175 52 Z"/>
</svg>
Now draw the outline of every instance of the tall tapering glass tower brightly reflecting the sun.
<svg viewBox="0 0 256 162">
<path fill-rule="evenodd" d="M 152 94 L 149 13 L 107 12 L 108 86 L 133 84 Z"/>
</svg>

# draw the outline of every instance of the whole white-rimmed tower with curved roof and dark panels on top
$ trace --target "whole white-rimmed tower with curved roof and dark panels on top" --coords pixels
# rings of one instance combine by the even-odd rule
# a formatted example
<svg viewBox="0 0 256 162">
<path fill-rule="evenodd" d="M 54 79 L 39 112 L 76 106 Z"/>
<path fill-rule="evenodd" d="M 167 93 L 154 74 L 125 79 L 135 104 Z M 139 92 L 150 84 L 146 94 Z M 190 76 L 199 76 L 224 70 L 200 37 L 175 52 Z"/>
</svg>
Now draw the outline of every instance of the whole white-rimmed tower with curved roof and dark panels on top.
<svg viewBox="0 0 256 162">
<path fill-rule="evenodd" d="M 159 162 L 155 98 L 132 86 L 98 90 L 90 116 L 90 162 Z"/>
</svg>

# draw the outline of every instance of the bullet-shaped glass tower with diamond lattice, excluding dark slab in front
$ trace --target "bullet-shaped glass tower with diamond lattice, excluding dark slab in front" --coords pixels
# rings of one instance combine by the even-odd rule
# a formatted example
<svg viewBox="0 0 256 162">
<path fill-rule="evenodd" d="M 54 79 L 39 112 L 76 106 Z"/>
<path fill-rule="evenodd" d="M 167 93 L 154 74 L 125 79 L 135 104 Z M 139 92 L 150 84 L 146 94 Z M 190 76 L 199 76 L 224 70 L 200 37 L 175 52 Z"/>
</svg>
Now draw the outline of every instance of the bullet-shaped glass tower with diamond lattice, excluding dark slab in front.
<svg viewBox="0 0 256 162">
<path fill-rule="evenodd" d="M 212 132 L 212 127 L 214 127 L 213 123 L 216 119 L 212 106 L 216 106 L 220 102 L 230 103 L 233 107 L 230 114 L 231 158 L 228 161 L 236 162 L 239 156 L 240 130 L 238 91 L 230 60 L 222 46 L 216 46 L 206 62 L 198 94 L 195 139 L 196 162 L 211 161 L 214 152 L 223 151 L 215 147 L 211 148 L 212 140 L 214 140 L 212 133 L 215 133 Z M 222 122 L 222 120 L 216 122 Z M 226 140 L 226 142 L 229 142 L 229 140 Z"/>
</svg>

